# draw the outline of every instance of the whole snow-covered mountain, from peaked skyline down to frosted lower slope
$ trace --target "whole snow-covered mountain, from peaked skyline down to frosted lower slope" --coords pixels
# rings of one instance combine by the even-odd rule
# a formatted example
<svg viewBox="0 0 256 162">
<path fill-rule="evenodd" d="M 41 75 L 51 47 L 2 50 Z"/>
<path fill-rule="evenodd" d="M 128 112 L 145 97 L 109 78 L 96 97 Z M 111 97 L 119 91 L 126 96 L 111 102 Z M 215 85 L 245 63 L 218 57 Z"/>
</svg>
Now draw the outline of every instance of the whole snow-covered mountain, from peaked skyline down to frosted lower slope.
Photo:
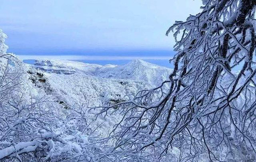
<svg viewBox="0 0 256 162">
<path fill-rule="evenodd" d="M 37 87 L 69 106 L 89 107 L 131 99 L 139 90 L 158 86 L 171 69 L 142 60 L 123 65 L 97 65 L 66 60 L 36 60 L 27 65 Z"/>
</svg>

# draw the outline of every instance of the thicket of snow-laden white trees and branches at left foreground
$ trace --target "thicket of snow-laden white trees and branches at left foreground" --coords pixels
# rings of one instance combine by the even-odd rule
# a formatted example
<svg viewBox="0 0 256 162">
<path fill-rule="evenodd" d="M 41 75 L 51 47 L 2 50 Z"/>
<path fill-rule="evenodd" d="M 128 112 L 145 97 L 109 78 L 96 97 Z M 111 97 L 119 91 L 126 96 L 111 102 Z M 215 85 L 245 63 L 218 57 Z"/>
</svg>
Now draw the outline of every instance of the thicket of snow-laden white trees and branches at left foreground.
<svg viewBox="0 0 256 162">
<path fill-rule="evenodd" d="M 0 161 L 108 161 L 83 107 L 64 109 L 29 80 L 27 66 L 7 54 L 0 30 Z"/>
</svg>

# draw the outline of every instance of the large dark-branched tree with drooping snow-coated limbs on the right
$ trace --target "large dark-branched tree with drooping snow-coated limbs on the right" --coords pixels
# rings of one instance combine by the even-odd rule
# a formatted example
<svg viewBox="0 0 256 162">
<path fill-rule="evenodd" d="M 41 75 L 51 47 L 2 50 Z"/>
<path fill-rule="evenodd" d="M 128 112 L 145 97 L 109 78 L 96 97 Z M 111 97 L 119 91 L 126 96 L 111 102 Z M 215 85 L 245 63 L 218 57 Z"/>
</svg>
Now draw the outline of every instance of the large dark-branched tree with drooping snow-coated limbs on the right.
<svg viewBox="0 0 256 162">
<path fill-rule="evenodd" d="M 173 72 L 132 101 L 103 107 L 123 118 L 112 150 L 126 161 L 255 161 L 255 0 L 203 0 L 177 21 Z M 166 90 L 166 87 L 169 87 Z"/>
</svg>

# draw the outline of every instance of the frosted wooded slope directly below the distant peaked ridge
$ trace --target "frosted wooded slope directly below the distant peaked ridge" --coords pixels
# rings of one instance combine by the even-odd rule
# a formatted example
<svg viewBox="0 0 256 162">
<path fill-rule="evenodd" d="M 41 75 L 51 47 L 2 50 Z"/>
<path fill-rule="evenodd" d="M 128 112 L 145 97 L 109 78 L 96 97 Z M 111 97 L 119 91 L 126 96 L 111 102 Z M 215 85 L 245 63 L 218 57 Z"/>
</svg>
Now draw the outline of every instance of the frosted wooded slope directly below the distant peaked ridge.
<svg viewBox="0 0 256 162">
<path fill-rule="evenodd" d="M 118 101 L 129 100 L 135 93 L 147 88 L 145 83 L 138 81 L 97 78 L 76 73 L 72 75 L 47 75 L 47 81 L 52 87 L 54 96 L 64 100 L 68 105 L 88 107 L 115 104 Z"/>
</svg>

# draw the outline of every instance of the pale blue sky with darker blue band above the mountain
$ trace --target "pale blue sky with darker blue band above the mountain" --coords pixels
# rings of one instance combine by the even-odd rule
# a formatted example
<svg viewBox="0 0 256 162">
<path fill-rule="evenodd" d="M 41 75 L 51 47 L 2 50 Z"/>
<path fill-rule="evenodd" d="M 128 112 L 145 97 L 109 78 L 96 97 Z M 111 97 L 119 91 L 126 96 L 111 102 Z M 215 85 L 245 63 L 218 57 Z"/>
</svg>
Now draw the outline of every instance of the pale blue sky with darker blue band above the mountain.
<svg viewBox="0 0 256 162">
<path fill-rule="evenodd" d="M 165 31 L 175 20 L 185 21 L 189 14 L 200 12 L 201 3 L 201 0 L 2 0 L 0 28 L 8 36 L 8 52 L 23 58 L 24 55 L 66 58 L 79 55 L 90 59 L 94 56 L 165 59 L 173 55 L 174 45 L 172 35 L 166 37 Z"/>
</svg>

